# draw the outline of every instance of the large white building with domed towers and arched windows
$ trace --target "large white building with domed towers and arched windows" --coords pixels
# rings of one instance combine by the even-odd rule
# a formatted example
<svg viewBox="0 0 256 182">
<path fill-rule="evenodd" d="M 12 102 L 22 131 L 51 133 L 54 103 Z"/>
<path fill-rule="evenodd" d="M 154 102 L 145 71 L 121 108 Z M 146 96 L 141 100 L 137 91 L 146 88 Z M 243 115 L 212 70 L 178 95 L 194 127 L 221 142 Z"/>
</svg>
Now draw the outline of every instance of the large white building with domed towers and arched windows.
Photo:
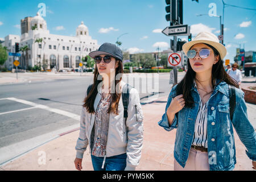
<svg viewBox="0 0 256 182">
<path fill-rule="evenodd" d="M 98 49 L 97 40 L 89 36 L 88 28 L 84 22 L 76 28 L 76 36 L 63 36 L 50 34 L 47 23 L 39 14 L 35 17 L 26 17 L 20 21 L 22 35 L 7 35 L 2 46 L 9 52 L 15 52 L 15 43 L 19 48 L 27 46 L 27 51 L 19 51 L 20 68 L 41 65 L 46 69 L 56 67 L 57 70 L 79 68 L 82 57 Z M 35 30 L 32 28 L 36 26 Z M 35 42 L 42 39 L 42 42 Z M 5 63 L 7 69 L 14 68 L 14 56 L 9 56 Z"/>
</svg>

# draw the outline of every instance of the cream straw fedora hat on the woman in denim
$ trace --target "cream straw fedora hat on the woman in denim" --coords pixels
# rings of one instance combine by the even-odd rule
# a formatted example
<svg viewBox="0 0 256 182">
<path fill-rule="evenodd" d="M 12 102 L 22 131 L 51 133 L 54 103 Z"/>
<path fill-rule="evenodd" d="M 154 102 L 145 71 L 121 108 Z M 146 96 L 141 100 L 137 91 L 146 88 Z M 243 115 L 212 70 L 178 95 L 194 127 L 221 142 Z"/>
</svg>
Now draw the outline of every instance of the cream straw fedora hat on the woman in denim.
<svg viewBox="0 0 256 182">
<path fill-rule="evenodd" d="M 223 60 L 224 57 L 226 56 L 225 46 L 223 46 L 221 43 L 219 43 L 217 36 L 210 32 L 200 32 L 199 34 L 197 34 L 197 36 L 195 37 L 194 40 L 183 44 L 182 50 L 187 55 L 188 50 L 193 45 L 198 44 L 198 43 L 206 43 L 206 44 L 209 44 L 210 46 L 216 48 L 218 53 L 220 53 L 221 60 Z"/>
</svg>

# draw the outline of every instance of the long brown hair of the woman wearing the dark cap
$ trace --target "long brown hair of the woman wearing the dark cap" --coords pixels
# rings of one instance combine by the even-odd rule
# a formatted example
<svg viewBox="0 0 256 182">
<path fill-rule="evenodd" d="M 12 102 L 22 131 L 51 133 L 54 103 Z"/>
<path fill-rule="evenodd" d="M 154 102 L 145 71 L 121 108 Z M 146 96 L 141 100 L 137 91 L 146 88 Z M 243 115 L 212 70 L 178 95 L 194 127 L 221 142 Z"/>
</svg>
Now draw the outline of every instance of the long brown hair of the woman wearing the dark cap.
<svg viewBox="0 0 256 182">
<path fill-rule="evenodd" d="M 118 67 L 115 68 L 115 78 L 117 77 L 118 74 L 119 74 L 118 76 L 120 76 L 119 80 L 115 79 L 115 88 L 117 88 L 118 82 L 122 80 L 123 64 L 122 64 L 122 61 L 119 59 L 115 59 L 115 61 L 118 61 Z M 94 101 L 98 93 L 98 89 L 97 89 L 98 84 L 100 84 L 100 82 L 102 81 L 102 80 L 98 80 L 99 76 L 101 75 L 100 73 L 98 73 L 98 69 L 96 67 L 94 72 L 92 89 L 88 93 L 88 96 L 84 98 L 84 104 L 82 105 L 87 109 L 89 113 L 95 113 Z M 117 89 L 119 89 L 119 87 Z M 109 93 L 109 94 L 110 94 L 110 106 L 109 106 L 108 113 L 112 112 L 114 114 L 118 114 L 118 103 L 121 97 L 121 92 L 119 92 L 119 90 L 115 90 L 114 93 Z"/>
</svg>

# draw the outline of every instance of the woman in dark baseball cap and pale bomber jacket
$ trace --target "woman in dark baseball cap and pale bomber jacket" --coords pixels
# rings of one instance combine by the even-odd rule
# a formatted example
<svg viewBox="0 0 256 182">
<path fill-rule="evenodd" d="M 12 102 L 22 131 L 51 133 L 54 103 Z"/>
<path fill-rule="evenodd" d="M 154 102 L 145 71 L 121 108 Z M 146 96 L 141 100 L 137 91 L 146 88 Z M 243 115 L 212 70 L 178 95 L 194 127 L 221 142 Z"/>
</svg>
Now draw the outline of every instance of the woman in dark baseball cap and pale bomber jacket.
<svg viewBox="0 0 256 182">
<path fill-rule="evenodd" d="M 123 55 L 117 46 L 104 43 L 89 56 L 96 61 L 96 69 L 82 105 L 75 167 L 82 169 L 89 146 L 94 170 L 134 170 L 141 159 L 143 142 L 138 91 L 122 81 Z M 124 95 L 127 88 L 130 90 L 125 93 L 129 94 Z"/>
</svg>

